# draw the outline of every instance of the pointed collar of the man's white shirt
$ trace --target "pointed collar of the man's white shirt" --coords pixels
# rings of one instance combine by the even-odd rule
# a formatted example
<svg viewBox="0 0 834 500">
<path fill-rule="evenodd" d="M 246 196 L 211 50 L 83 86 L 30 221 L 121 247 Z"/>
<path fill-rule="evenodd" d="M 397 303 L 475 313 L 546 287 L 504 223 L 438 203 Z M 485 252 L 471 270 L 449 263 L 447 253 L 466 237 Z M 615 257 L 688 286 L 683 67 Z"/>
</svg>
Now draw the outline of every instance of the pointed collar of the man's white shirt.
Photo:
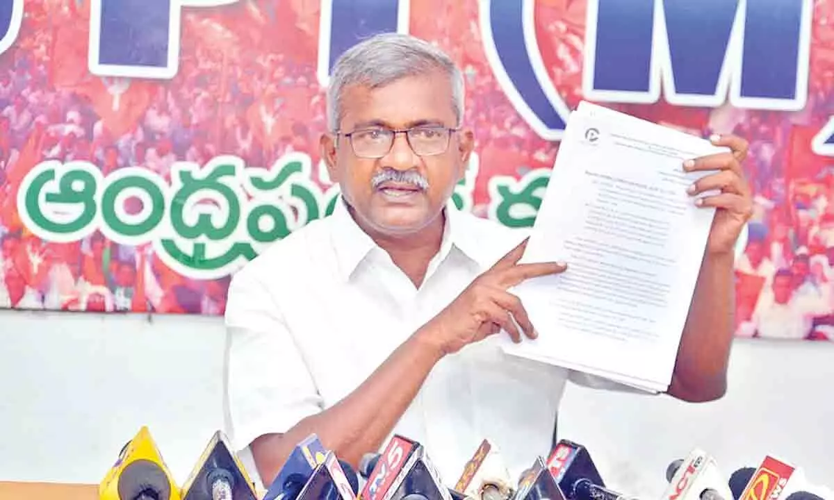
<svg viewBox="0 0 834 500">
<path fill-rule="evenodd" d="M 492 264 L 490 262 L 492 256 L 481 251 L 482 245 L 479 245 L 477 235 L 472 230 L 470 221 L 467 220 L 467 218 L 473 216 L 460 213 L 452 200 L 446 204 L 445 214 L 446 221 L 443 241 L 440 243 L 440 259 L 445 258 L 452 248 L 456 248 L 481 267 L 489 267 Z M 354 218 L 351 217 L 344 198 L 339 197 L 339 201 L 336 203 L 330 217 L 333 225 L 332 239 L 336 260 L 339 264 L 339 274 L 344 281 L 348 281 L 364 258 L 372 250 L 379 247 L 362 228 L 359 228 Z"/>
</svg>

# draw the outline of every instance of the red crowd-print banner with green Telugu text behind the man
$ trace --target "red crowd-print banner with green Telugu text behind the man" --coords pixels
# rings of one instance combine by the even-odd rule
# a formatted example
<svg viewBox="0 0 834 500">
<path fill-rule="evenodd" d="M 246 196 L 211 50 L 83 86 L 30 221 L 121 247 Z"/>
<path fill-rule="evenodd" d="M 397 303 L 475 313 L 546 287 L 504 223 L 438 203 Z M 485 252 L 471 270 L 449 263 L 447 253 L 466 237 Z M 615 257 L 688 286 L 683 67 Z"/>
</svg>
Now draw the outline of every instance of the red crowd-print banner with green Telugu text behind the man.
<svg viewBox="0 0 834 500">
<path fill-rule="evenodd" d="M 586 99 L 751 145 L 738 335 L 834 340 L 834 2 L 8 0 L 0 308 L 224 313 L 230 275 L 333 210 L 336 57 L 376 32 L 465 74 L 455 204 L 535 220 Z"/>
</svg>

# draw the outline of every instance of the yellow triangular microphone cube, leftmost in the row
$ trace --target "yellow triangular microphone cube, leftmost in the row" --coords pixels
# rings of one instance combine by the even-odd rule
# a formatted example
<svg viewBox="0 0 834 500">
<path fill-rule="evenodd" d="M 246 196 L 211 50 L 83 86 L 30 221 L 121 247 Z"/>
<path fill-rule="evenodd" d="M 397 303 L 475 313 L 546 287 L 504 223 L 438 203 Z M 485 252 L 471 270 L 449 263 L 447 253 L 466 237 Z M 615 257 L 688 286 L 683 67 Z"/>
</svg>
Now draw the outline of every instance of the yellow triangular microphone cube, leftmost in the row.
<svg viewBox="0 0 834 500">
<path fill-rule="evenodd" d="M 100 500 L 180 500 L 179 490 L 147 427 L 122 448 L 98 485 Z"/>
</svg>

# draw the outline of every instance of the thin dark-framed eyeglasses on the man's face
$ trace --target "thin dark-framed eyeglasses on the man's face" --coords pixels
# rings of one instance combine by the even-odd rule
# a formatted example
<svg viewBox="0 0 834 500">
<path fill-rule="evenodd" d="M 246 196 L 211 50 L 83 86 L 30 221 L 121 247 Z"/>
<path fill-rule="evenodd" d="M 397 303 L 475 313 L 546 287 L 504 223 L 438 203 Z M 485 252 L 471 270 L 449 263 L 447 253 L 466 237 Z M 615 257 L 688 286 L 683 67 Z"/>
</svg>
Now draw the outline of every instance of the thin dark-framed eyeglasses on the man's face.
<svg viewBox="0 0 834 500">
<path fill-rule="evenodd" d="M 351 133 L 341 133 L 348 138 L 350 147 L 359 158 L 383 158 L 394 146 L 394 138 L 398 133 L 404 133 L 409 147 L 418 156 L 433 156 L 442 154 L 449 148 L 449 141 L 453 132 L 458 128 L 440 126 L 420 126 L 391 130 L 389 128 L 366 128 L 354 130 Z M 337 132 L 339 134 L 339 132 Z"/>
</svg>

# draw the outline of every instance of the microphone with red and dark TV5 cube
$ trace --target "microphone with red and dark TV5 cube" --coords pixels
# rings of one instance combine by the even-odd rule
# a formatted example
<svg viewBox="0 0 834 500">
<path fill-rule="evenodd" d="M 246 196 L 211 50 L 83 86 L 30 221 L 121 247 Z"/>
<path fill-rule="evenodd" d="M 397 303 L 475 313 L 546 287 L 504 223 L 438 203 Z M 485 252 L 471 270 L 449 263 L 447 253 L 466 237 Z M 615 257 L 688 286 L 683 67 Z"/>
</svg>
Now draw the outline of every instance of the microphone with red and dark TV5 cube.
<svg viewBox="0 0 834 500">
<path fill-rule="evenodd" d="M 373 460 L 365 455 L 359 466 L 360 472 L 367 473 Z M 409 494 L 424 495 L 431 500 L 451 500 L 450 491 L 440 481 L 440 474 L 423 445 L 399 434 L 388 442 L 367 477 L 368 482 L 360 495 L 363 500 L 402 498 Z"/>
</svg>

